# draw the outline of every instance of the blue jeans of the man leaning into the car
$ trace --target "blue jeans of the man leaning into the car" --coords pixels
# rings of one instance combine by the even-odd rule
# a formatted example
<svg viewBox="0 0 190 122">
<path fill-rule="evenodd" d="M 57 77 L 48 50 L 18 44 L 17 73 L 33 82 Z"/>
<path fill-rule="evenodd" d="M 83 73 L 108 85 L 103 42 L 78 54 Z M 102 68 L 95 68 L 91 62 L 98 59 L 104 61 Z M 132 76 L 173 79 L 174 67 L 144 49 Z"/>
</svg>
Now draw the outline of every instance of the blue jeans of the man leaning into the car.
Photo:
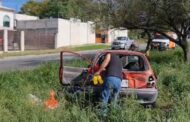
<svg viewBox="0 0 190 122">
<path fill-rule="evenodd" d="M 109 76 L 104 79 L 103 91 L 101 94 L 102 101 L 104 105 L 107 105 L 109 98 L 111 96 L 111 102 L 115 105 L 117 102 L 117 97 L 121 89 L 121 79 L 114 76 Z M 112 93 L 113 92 L 113 93 Z"/>
</svg>

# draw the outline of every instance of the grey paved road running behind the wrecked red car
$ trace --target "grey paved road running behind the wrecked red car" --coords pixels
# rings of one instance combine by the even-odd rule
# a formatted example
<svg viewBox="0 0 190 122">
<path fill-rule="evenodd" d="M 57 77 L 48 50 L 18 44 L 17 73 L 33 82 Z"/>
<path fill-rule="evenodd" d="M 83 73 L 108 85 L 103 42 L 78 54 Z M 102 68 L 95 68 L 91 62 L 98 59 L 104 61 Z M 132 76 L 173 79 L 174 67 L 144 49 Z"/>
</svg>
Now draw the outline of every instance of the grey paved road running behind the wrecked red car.
<svg viewBox="0 0 190 122">
<path fill-rule="evenodd" d="M 140 50 L 145 49 L 145 45 L 140 45 Z M 96 51 L 81 51 L 83 55 L 93 55 Z M 67 56 L 69 58 L 69 56 Z M 0 72 L 15 70 L 30 70 L 47 62 L 58 62 L 59 53 L 33 56 L 17 56 L 0 59 Z"/>
</svg>

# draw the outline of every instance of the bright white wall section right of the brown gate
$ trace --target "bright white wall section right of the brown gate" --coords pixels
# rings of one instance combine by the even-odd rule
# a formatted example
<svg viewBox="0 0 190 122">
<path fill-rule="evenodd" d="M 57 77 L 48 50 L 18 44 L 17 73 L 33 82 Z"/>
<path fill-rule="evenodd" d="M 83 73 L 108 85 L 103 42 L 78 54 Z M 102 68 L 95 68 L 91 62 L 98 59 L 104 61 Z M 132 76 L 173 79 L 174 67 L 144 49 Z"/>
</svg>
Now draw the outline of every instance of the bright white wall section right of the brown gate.
<svg viewBox="0 0 190 122">
<path fill-rule="evenodd" d="M 59 19 L 56 39 L 56 48 L 95 43 L 93 23 Z"/>
</svg>

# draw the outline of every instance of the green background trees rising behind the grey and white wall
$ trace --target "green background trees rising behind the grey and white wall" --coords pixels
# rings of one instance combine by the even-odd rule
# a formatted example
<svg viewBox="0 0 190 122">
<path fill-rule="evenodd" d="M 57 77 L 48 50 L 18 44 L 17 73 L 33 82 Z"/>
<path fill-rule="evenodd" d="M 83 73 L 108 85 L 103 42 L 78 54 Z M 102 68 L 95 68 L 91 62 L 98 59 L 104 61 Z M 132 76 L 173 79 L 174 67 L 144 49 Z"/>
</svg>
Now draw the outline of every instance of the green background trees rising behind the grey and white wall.
<svg viewBox="0 0 190 122">
<path fill-rule="evenodd" d="M 108 7 L 101 0 L 41 0 L 29 1 L 21 12 L 40 18 L 77 18 L 81 21 L 93 21 L 96 28 L 108 27 Z"/>
</svg>

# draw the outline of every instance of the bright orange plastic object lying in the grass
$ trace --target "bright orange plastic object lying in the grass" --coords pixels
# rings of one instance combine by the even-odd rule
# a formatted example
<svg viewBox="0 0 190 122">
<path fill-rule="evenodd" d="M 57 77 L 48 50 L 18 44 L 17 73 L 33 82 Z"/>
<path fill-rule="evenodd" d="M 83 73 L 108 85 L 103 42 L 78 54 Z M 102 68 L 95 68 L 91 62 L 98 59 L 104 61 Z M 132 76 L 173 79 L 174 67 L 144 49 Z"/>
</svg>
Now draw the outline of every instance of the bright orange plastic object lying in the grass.
<svg viewBox="0 0 190 122">
<path fill-rule="evenodd" d="M 55 109 L 58 106 L 58 101 L 55 99 L 54 90 L 50 91 L 50 98 L 45 101 L 45 107 L 49 109 Z"/>
</svg>

